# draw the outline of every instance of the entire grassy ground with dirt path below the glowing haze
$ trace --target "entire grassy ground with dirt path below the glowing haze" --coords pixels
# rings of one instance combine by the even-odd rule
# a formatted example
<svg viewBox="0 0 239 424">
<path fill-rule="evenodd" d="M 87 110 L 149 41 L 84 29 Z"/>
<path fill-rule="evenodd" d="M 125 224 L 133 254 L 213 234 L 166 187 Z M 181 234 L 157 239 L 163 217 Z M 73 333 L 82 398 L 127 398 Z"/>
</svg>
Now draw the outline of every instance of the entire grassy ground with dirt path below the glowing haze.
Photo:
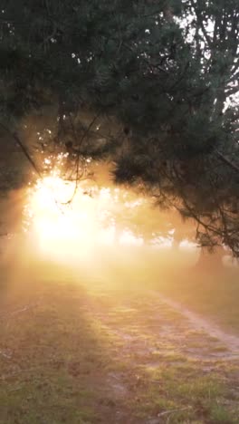
<svg viewBox="0 0 239 424">
<path fill-rule="evenodd" d="M 1 423 L 239 423 L 239 339 L 226 320 L 218 329 L 222 317 L 210 321 L 215 310 L 200 321 L 196 302 L 179 304 L 186 296 L 173 284 L 172 301 L 169 283 L 130 282 L 113 270 L 90 278 L 60 265 L 14 274 L 8 266 Z"/>
</svg>

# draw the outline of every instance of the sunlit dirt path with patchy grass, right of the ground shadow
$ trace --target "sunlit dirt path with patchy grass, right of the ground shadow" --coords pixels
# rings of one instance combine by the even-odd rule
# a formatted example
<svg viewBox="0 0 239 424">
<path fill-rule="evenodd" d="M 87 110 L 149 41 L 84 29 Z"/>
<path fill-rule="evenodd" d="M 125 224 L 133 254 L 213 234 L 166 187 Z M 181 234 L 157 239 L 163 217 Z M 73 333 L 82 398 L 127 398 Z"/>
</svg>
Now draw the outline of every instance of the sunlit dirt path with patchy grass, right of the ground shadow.
<svg viewBox="0 0 239 424">
<path fill-rule="evenodd" d="M 107 384 L 112 396 L 122 405 L 139 402 L 140 419 L 127 418 L 121 408 L 114 422 L 239 422 L 221 410 L 208 412 L 207 419 L 209 407 L 203 406 L 211 403 L 215 385 L 221 383 L 230 391 L 222 402 L 230 410 L 239 404 L 236 337 L 157 292 L 99 285 L 88 294 L 85 313 L 111 341 Z M 219 394 L 215 401 L 220 404 Z"/>
</svg>

